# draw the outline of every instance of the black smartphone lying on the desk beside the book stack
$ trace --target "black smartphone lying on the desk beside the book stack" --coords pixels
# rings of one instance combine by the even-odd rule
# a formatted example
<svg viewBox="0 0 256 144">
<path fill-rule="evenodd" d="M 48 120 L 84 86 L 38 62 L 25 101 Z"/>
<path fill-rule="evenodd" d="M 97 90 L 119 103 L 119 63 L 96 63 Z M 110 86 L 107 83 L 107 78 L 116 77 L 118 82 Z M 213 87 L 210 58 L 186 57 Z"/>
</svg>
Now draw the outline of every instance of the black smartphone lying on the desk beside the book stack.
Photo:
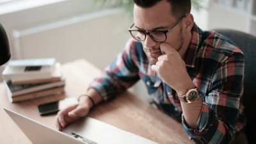
<svg viewBox="0 0 256 144">
<path fill-rule="evenodd" d="M 50 115 L 52 113 L 57 113 L 59 111 L 59 101 L 40 104 L 38 106 L 38 110 L 40 115 Z"/>
</svg>

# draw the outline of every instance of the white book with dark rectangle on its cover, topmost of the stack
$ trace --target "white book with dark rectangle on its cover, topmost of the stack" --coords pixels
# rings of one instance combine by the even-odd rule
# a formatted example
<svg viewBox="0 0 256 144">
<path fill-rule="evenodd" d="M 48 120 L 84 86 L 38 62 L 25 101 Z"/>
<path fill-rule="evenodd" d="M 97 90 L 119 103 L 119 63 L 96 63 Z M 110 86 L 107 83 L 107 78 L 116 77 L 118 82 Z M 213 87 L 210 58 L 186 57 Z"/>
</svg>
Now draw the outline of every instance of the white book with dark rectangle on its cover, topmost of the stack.
<svg viewBox="0 0 256 144">
<path fill-rule="evenodd" d="M 4 80 L 51 78 L 56 62 L 51 59 L 29 59 L 8 62 L 3 70 Z"/>
</svg>

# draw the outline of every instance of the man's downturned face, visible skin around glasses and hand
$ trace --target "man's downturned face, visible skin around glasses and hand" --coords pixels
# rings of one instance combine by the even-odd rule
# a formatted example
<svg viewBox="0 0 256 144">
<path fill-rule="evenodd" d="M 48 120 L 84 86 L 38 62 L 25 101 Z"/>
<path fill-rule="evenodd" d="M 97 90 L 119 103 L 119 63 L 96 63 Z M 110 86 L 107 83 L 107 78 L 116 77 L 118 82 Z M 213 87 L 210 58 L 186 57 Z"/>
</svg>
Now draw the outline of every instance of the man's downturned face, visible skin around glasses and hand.
<svg viewBox="0 0 256 144">
<path fill-rule="evenodd" d="M 160 1 L 151 8 L 141 8 L 134 5 L 134 27 L 142 31 L 166 31 L 175 22 L 175 18 L 171 13 L 171 6 L 167 1 Z M 166 41 L 175 50 L 179 50 L 184 43 L 184 36 L 181 27 L 182 20 L 166 33 Z M 152 40 L 150 36 L 146 36 L 145 41 L 141 41 L 143 50 L 151 64 L 156 64 L 157 57 L 162 55 L 160 50 L 160 42 Z"/>
</svg>

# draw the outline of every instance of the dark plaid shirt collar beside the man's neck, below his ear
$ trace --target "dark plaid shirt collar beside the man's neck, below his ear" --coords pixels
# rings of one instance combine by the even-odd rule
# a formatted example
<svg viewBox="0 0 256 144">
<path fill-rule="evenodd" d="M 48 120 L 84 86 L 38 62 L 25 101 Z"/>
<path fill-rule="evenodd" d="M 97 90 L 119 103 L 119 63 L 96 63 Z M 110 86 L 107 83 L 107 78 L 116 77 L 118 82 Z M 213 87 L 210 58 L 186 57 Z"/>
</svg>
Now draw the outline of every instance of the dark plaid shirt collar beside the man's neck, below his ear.
<svg viewBox="0 0 256 144">
<path fill-rule="evenodd" d="M 202 41 L 202 32 L 203 31 L 194 23 L 191 30 L 191 41 L 184 57 L 184 61 L 188 67 L 195 68 L 196 54 Z"/>
</svg>

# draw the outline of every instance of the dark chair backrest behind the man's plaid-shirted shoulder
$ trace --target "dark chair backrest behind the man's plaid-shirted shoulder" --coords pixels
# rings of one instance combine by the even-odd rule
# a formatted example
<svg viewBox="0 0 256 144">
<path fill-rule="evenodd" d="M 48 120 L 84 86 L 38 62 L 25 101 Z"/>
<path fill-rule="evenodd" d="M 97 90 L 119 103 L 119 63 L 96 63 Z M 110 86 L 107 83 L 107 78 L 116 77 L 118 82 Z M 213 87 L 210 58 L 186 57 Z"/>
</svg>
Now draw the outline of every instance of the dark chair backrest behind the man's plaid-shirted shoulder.
<svg viewBox="0 0 256 144">
<path fill-rule="evenodd" d="M 243 104 L 247 117 L 246 136 L 256 143 L 256 37 L 231 29 L 215 29 L 236 43 L 245 57 Z"/>
</svg>

